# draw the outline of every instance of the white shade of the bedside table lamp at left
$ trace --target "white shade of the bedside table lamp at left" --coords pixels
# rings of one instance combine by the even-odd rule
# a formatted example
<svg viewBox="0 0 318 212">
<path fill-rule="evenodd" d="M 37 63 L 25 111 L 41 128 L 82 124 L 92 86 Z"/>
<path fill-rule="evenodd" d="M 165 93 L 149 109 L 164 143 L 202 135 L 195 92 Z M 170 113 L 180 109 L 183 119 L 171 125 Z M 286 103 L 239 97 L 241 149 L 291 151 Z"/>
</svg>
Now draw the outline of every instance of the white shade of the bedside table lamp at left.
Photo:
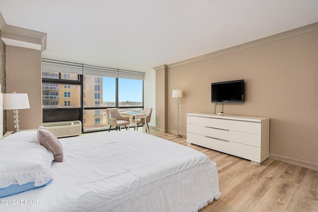
<svg viewBox="0 0 318 212">
<path fill-rule="evenodd" d="M 3 93 L 3 110 L 30 108 L 27 93 Z"/>
</svg>

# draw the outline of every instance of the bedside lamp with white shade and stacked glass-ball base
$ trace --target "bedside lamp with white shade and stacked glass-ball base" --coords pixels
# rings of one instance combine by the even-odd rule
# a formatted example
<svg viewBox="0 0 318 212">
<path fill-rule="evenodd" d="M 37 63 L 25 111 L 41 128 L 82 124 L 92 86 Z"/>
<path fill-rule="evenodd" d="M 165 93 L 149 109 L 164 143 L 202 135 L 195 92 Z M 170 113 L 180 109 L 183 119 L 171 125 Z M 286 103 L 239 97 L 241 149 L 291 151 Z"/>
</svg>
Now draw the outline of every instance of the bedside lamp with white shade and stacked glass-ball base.
<svg viewBox="0 0 318 212">
<path fill-rule="evenodd" d="M 3 110 L 14 110 L 14 123 L 15 130 L 12 132 L 21 132 L 19 127 L 19 111 L 20 109 L 30 108 L 28 94 L 27 93 L 3 93 Z"/>
</svg>

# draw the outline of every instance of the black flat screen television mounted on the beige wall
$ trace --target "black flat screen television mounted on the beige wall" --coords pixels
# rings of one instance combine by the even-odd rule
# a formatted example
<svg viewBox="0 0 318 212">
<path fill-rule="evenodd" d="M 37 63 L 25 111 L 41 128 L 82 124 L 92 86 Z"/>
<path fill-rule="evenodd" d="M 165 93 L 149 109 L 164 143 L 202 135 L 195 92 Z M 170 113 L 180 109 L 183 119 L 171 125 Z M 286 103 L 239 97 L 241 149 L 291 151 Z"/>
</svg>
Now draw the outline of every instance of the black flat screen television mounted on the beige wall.
<svg viewBox="0 0 318 212">
<path fill-rule="evenodd" d="M 211 84 L 212 103 L 243 103 L 244 79 Z"/>
</svg>

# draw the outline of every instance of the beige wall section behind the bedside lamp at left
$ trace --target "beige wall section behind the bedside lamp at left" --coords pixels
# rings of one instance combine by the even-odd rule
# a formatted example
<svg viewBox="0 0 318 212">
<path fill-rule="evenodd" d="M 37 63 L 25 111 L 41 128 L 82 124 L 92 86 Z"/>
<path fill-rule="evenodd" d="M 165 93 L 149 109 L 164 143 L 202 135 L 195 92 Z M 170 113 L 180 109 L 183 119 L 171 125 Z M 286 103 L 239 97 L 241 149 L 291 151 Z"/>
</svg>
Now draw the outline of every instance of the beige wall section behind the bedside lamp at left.
<svg viewBox="0 0 318 212">
<path fill-rule="evenodd" d="M 30 109 L 19 110 L 20 130 L 42 125 L 41 51 L 6 46 L 6 93 L 27 93 Z M 7 111 L 7 131 L 14 130 L 14 114 Z"/>
</svg>

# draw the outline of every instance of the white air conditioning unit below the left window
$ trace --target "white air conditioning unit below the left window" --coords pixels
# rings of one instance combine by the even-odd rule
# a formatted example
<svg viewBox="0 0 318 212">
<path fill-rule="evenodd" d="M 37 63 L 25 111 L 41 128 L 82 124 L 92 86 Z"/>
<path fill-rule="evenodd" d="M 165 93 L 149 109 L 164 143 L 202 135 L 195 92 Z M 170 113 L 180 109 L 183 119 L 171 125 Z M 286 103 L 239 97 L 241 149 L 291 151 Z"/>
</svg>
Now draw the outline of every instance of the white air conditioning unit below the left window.
<svg viewBox="0 0 318 212">
<path fill-rule="evenodd" d="M 46 122 L 43 127 L 49 129 L 57 138 L 79 136 L 81 134 L 80 121 Z"/>
</svg>

